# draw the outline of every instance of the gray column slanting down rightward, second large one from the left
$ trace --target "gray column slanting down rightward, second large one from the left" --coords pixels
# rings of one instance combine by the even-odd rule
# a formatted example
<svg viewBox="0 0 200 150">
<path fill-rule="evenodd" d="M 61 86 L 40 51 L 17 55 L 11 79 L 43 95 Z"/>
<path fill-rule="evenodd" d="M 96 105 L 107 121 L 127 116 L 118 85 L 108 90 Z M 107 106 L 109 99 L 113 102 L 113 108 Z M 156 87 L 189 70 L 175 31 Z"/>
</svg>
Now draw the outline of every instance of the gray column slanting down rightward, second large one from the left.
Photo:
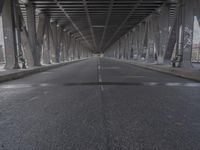
<svg viewBox="0 0 200 150">
<path fill-rule="evenodd" d="M 32 2 L 28 2 L 26 5 L 27 13 L 27 25 L 28 25 L 28 35 L 31 45 L 31 50 L 33 54 L 34 66 L 41 66 L 40 54 L 41 51 L 38 49 L 37 35 L 36 35 L 36 19 L 35 19 L 35 6 Z"/>
</svg>

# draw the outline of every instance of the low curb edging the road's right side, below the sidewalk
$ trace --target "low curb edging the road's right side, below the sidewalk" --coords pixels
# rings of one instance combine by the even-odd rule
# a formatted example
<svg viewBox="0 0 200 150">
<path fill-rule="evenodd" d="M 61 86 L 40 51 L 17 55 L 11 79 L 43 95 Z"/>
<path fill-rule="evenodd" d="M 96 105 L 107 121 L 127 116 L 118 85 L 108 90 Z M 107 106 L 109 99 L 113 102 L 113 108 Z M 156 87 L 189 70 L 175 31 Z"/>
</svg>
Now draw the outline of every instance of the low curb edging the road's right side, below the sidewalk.
<svg viewBox="0 0 200 150">
<path fill-rule="evenodd" d="M 181 77 L 184 79 L 190 79 L 190 80 L 200 82 L 200 71 L 198 71 L 198 70 L 184 70 L 184 69 L 180 69 L 180 68 L 162 68 L 161 66 L 150 65 L 150 64 L 141 64 L 141 63 L 137 63 L 137 62 L 129 62 L 129 61 L 123 61 L 123 60 L 118 60 L 118 59 L 113 59 L 113 60 L 132 64 L 137 67 L 144 68 L 144 69 L 154 70 L 157 72 L 161 72 L 161 73 Z"/>
</svg>

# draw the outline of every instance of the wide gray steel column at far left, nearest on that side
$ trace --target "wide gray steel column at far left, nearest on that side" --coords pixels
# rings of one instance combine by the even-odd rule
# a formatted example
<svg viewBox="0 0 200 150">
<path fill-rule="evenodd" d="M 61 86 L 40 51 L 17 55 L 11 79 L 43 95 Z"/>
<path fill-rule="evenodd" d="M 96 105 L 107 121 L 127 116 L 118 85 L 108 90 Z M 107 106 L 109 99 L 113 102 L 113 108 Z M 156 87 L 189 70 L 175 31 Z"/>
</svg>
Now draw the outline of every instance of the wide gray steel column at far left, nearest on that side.
<svg viewBox="0 0 200 150">
<path fill-rule="evenodd" d="M 15 34 L 14 1 L 6 0 L 2 10 L 6 69 L 18 69 L 18 52 Z"/>
</svg>

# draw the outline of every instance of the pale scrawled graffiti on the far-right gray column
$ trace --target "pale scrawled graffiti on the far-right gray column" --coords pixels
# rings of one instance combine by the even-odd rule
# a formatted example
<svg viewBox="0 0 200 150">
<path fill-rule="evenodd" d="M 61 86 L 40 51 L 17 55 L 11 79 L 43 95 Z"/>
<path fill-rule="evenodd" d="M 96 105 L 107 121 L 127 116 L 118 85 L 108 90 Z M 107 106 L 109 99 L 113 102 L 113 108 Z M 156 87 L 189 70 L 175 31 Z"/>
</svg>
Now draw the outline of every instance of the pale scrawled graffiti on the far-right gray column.
<svg viewBox="0 0 200 150">
<path fill-rule="evenodd" d="M 191 47 L 192 45 L 193 31 L 189 27 L 185 27 L 184 32 L 185 32 L 184 35 L 184 49 L 185 49 Z"/>
</svg>

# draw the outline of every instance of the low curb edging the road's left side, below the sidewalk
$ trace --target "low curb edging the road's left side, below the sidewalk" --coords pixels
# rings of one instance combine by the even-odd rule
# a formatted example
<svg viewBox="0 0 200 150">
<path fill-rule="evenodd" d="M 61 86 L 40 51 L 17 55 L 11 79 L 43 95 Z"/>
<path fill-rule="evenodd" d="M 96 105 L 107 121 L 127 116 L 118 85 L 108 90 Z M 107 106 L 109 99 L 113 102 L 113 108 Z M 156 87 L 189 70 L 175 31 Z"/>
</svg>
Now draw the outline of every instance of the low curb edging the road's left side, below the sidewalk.
<svg viewBox="0 0 200 150">
<path fill-rule="evenodd" d="M 80 62 L 80 61 L 83 61 L 83 60 L 86 60 L 86 59 L 87 58 L 79 59 L 79 60 L 75 60 L 75 61 L 64 62 L 64 63 L 60 63 L 60 64 L 52 64 L 52 65 L 49 65 L 49 66 L 41 66 L 41 67 L 31 68 L 31 69 L 27 69 L 27 70 L 19 70 L 19 71 L 14 72 L 14 73 L 8 73 L 8 74 L 5 74 L 5 75 L 0 75 L 0 83 L 20 79 L 20 78 L 23 78 L 23 77 L 26 77 L 26 76 L 29 76 L 29 75 L 33 75 L 33 74 L 40 73 L 40 72 L 43 72 L 43 71 L 55 69 L 55 68 L 62 67 L 62 66 L 68 65 L 68 64 Z"/>
</svg>

